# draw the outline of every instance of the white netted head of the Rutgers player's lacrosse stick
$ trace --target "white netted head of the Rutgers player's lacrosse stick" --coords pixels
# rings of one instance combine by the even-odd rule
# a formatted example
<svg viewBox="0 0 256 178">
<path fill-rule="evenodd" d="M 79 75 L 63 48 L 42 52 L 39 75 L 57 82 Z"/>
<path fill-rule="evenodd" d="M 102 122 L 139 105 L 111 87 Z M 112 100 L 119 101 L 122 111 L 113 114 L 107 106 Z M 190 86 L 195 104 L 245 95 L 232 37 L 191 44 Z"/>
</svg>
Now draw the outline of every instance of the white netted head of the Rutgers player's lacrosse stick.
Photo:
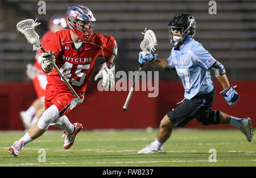
<svg viewBox="0 0 256 178">
<path fill-rule="evenodd" d="M 41 48 L 39 35 L 35 32 L 35 27 L 39 24 L 33 19 L 22 20 L 16 24 L 17 30 L 33 45 L 33 51 Z"/>
</svg>

